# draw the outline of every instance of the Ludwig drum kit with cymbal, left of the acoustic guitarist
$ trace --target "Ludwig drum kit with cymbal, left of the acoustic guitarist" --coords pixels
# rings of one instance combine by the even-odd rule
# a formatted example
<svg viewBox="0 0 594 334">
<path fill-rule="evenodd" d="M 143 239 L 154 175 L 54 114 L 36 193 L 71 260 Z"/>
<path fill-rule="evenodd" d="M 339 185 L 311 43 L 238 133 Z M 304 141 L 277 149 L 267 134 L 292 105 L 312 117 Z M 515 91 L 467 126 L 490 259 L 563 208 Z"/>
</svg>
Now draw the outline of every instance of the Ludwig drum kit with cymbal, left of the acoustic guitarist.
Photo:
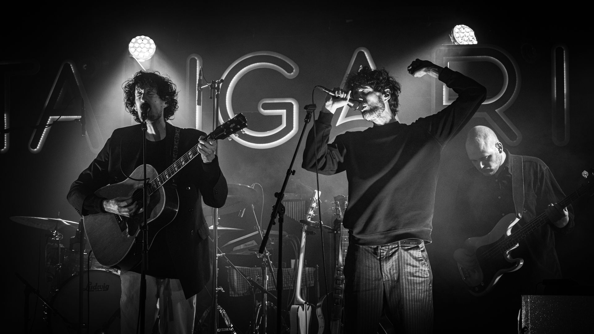
<svg viewBox="0 0 594 334">
<path fill-rule="evenodd" d="M 50 333 L 119 333 L 119 299 L 121 286 L 118 270 L 104 267 L 90 251 L 84 249 L 79 223 L 59 218 L 12 216 L 13 222 L 51 232 L 45 247 L 45 276 L 49 298 L 17 274 L 27 292 L 33 292 L 45 304 L 45 320 Z M 62 232 L 75 232 L 69 248 L 64 247 Z M 82 241 L 82 244 L 81 244 Z M 80 248 L 83 247 L 81 251 Z M 80 270 L 83 263 L 83 270 Z M 83 282 L 82 298 L 80 286 Z M 77 300 L 82 307 L 75 307 Z M 28 321 L 26 305 L 25 322 Z M 80 326 L 79 313 L 84 325 Z"/>
</svg>

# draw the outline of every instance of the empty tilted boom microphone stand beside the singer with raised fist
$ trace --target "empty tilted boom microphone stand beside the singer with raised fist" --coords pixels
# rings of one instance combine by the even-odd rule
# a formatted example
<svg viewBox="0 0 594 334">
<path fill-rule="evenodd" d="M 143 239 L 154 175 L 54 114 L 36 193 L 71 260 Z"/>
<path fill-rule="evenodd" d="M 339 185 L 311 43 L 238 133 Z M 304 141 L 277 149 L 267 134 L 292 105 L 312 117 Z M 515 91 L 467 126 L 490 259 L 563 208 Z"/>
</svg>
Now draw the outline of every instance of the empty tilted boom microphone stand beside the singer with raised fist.
<svg viewBox="0 0 594 334">
<path fill-rule="evenodd" d="M 279 193 L 274 193 L 274 197 L 276 197 L 276 204 L 272 209 L 272 213 L 270 214 L 270 223 L 268 223 L 268 228 L 266 229 L 266 234 L 263 237 L 262 244 L 260 245 L 260 254 L 264 254 L 264 250 L 266 249 L 266 243 L 268 242 L 268 237 L 270 235 L 270 230 L 272 229 L 272 225 L 276 216 L 279 216 L 279 266 L 277 267 L 277 278 L 276 278 L 276 332 L 282 333 L 282 291 L 283 291 L 283 268 L 282 268 L 282 257 L 283 257 L 283 220 L 285 216 L 285 206 L 281 202 L 283 197 L 285 197 L 285 188 L 287 187 L 287 182 L 289 182 L 290 175 L 295 175 L 295 171 L 293 170 L 293 163 L 295 163 L 295 157 L 297 156 L 297 152 L 299 150 L 299 146 L 301 145 L 301 140 L 303 139 L 303 135 L 305 133 L 305 128 L 311 121 L 311 115 L 314 113 L 316 106 L 314 104 L 306 105 L 304 107 L 307 114 L 305 115 L 305 125 L 301 130 L 301 136 L 299 136 L 299 141 L 297 142 L 297 147 L 295 148 L 295 153 L 293 153 L 293 159 L 289 165 L 289 169 L 287 169 L 287 173 L 285 175 L 285 181 L 283 182 L 283 187 L 280 189 Z"/>
</svg>

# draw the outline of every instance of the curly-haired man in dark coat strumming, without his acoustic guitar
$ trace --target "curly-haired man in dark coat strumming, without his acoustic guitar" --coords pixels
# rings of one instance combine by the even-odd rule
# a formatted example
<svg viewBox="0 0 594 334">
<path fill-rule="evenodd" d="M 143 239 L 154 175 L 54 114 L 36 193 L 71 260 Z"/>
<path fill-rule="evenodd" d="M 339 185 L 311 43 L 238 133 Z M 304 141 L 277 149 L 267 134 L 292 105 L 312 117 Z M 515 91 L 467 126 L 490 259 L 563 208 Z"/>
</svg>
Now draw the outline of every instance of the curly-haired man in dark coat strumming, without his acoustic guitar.
<svg viewBox="0 0 594 334">
<path fill-rule="evenodd" d="M 201 131 L 180 129 L 166 122 L 178 109 L 177 95 L 175 84 L 158 72 L 140 71 L 124 83 L 127 111 L 139 123 L 141 117 L 146 117 L 147 165 L 161 173 L 196 144 L 200 153 L 163 185 L 175 187 L 179 206 L 175 218 L 158 231 L 149 248 L 149 265 L 145 272 L 145 333 L 153 332 L 157 312 L 160 333 L 193 332 L 196 294 L 210 278 L 208 225 L 201 202 L 222 207 L 228 191 L 215 154 L 216 141 L 205 140 L 206 134 Z M 139 111 L 144 115 L 139 115 Z M 125 181 L 140 165 L 143 165 L 141 125 L 116 129 L 89 168 L 72 183 L 69 203 L 82 216 L 94 213 L 142 215 L 140 203 L 131 197 L 102 198 L 94 194 L 107 184 Z M 177 198 L 169 198 L 172 199 Z M 140 273 L 140 264 L 121 271 L 122 333 L 137 333 Z"/>
</svg>

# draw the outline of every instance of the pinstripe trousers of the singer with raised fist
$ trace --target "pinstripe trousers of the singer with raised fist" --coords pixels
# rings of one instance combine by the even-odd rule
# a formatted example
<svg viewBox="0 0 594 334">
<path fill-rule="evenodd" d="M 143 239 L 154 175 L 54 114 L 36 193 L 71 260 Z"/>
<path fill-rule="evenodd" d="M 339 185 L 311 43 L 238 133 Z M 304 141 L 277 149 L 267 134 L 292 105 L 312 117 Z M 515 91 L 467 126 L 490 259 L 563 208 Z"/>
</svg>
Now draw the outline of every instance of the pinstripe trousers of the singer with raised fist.
<svg viewBox="0 0 594 334">
<path fill-rule="evenodd" d="M 431 333 L 432 280 L 424 243 L 350 242 L 345 259 L 345 333 L 377 333 L 384 306 L 396 333 Z"/>
</svg>

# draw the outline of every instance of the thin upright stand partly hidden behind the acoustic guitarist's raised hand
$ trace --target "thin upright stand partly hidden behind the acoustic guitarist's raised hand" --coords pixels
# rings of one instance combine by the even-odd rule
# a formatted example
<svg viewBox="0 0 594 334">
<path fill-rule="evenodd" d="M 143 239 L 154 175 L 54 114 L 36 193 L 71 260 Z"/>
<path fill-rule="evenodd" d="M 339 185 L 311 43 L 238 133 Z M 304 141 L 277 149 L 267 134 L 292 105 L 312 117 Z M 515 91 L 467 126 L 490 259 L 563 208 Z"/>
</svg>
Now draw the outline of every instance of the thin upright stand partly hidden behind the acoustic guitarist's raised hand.
<svg viewBox="0 0 594 334">
<path fill-rule="evenodd" d="M 202 73 L 202 70 L 200 70 Z M 199 83 L 202 81 L 202 76 L 198 79 Z M 206 87 L 210 87 L 210 99 L 213 99 L 213 131 L 217 128 L 217 121 L 219 119 L 219 92 L 220 92 L 220 84 L 223 83 L 223 79 L 213 80 L 210 83 L 200 86 L 198 84 L 198 90 L 206 89 Z M 219 154 L 219 147 L 214 150 L 214 154 Z M 223 254 L 219 254 L 219 234 L 218 234 L 218 225 L 219 225 L 219 209 L 214 207 L 213 208 L 213 303 L 210 306 L 210 316 L 211 316 L 211 333 L 217 333 L 219 331 L 219 256 L 223 256 Z"/>
</svg>

